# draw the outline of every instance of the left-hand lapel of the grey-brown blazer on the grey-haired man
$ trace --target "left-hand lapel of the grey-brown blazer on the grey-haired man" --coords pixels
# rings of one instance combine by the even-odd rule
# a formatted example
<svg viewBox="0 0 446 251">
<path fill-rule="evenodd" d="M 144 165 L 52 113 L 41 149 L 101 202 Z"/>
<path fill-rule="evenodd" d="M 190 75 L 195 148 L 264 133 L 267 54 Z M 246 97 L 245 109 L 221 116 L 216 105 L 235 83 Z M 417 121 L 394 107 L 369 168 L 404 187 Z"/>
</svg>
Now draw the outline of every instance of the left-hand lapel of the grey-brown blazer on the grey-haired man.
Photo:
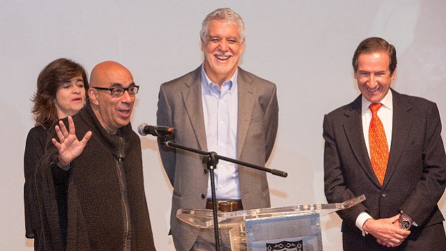
<svg viewBox="0 0 446 251">
<path fill-rule="evenodd" d="M 189 116 L 200 149 L 208 151 L 201 101 L 201 66 L 194 70 L 192 76 L 190 79 L 187 79 L 185 84 L 188 88 L 183 89 L 181 95 L 183 96 L 187 116 Z"/>
</svg>

